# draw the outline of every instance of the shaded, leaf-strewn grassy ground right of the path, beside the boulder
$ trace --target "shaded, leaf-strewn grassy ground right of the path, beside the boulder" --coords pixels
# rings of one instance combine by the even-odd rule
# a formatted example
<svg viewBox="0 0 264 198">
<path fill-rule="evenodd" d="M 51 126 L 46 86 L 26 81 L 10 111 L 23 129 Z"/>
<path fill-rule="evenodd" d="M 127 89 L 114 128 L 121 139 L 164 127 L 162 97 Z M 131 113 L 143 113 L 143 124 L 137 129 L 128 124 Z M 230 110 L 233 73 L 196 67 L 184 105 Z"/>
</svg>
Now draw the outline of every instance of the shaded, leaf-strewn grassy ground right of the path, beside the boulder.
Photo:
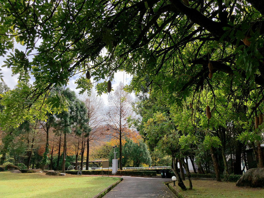
<svg viewBox="0 0 264 198">
<path fill-rule="evenodd" d="M 189 188 L 188 180 L 185 180 L 184 184 Z M 169 185 L 173 186 L 173 183 Z M 176 186 L 174 186 L 174 188 L 185 198 L 264 197 L 263 188 L 237 187 L 234 182 L 192 180 L 192 186 L 193 190 L 182 191 L 176 181 Z"/>
</svg>

